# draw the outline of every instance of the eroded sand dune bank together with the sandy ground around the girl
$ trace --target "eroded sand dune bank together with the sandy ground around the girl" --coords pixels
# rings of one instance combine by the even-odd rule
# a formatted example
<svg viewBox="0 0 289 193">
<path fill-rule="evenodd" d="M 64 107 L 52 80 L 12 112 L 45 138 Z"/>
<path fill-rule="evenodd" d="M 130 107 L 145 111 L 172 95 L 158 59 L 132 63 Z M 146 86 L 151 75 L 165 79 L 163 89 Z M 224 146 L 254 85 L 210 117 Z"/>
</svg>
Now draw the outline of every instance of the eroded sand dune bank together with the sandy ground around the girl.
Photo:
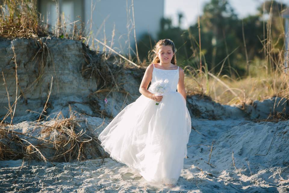
<svg viewBox="0 0 289 193">
<path fill-rule="evenodd" d="M 188 158 L 177 186 L 169 189 L 146 184 L 97 140 L 140 95 L 144 68 L 124 68 L 78 41 L 54 38 L 1 40 L 0 60 L 1 192 L 289 191 L 285 99 L 241 107 L 188 95 Z M 21 95 L 12 125 L 7 91 L 13 112 L 16 93 Z"/>
</svg>

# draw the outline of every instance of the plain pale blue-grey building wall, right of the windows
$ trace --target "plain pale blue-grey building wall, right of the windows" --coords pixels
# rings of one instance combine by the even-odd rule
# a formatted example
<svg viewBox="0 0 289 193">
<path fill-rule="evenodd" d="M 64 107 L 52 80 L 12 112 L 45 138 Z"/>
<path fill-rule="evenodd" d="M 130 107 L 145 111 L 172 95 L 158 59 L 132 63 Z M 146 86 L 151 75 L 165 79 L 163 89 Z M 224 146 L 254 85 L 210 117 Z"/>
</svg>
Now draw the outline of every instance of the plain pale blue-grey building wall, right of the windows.
<svg viewBox="0 0 289 193">
<path fill-rule="evenodd" d="M 91 0 L 85 0 L 85 22 L 89 30 L 91 16 Z M 92 13 L 92 34 L 93 38 L 104 41 L 104 29 L 107 39 L 107 45 L 110 46 L 113 25 L 115 24 L 115 36 L 113 40 L 113 49 L 122 54 L 128 53 L 128 29 L 127 29 L 127 8 L 130 8 L 129 18 L 132 19 L 131 0 L 93 0 L 95 9 Z M 150 33 L 152 38 L 157 38 L 157 32 L 160 30 L 160 19 L 164 15 L 164 0 L 134 0 L 134 16 L 136 39 L 138 40 L 143 33 Z M 105 24 L 104 24 L 105 21 Z M 132 23 L 129 26 L 130 43 L 134 47 L 134 32 Z M 94 42 L 96 44 L 97 42 Z M 154 43 L 153 43 L 154 44 Z M 92 38 L 89 41 L 89 46 L 93 46 Z M 103 46 L 99 44 L 102 50 Z"/>
</svg>

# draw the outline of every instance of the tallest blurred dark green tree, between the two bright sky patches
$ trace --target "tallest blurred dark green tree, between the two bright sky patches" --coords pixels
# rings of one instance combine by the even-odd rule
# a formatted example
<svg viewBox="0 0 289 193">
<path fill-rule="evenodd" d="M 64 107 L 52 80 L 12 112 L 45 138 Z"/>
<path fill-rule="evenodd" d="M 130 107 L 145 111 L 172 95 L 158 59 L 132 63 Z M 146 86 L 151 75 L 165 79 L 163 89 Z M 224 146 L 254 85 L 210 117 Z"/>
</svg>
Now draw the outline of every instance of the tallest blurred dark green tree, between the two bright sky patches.
<svg viewBox="0 0 289 193">
<path fill-rule="evenodd" d="M 236 38 L 238 17 L 234 9 L 226 0 L 211 0 L 203 8 L 204 14 L 200 17 L 202 36 L 210 37 L 204 48 L 207 49 L 206 60 L 209 69 L 217 72 L 221 69 L 220 63 L 229 52 L 234 50 L 240 41 Z M 203 40 L 202 40 L 203 41 Z M 202 45 L 204 45 L 202 43 Z M 229 56 L 222 70 L 229 71 L 229 61 L 236 54 Z M 237 66 L 234 66 L 237 68 Z"/>
</svg>

